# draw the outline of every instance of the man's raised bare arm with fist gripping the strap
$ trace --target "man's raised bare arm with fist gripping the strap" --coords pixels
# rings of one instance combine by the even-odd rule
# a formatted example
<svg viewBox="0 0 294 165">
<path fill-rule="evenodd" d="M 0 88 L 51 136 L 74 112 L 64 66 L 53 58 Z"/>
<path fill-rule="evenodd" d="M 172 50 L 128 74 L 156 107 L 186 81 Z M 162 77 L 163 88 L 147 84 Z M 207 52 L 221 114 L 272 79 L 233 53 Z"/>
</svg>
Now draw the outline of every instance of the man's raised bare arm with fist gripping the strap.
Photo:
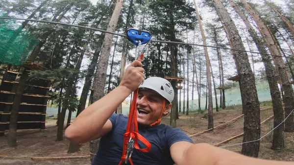
<svg viewBox="0 0 294 165">
<path fill-rule="evenodd" d="M 135 60 L 125 70 L 120 85 L 109 94 L 83 110 L 66 129 L 65 137 L 75 143 L 98 139 L 112 129 L 108 119 L 123 102 L 144 81 L 142 63 Z"/>
</svg>

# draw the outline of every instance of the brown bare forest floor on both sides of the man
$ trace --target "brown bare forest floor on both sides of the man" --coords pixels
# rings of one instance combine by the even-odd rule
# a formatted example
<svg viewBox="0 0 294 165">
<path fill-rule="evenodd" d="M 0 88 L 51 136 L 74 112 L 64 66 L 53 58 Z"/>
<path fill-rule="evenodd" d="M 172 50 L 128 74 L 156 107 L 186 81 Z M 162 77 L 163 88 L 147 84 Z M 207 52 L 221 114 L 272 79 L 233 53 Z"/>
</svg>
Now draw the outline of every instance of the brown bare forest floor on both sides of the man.
<svg viewBox="0 0 294 165">
<path fill-rule="evenodd" d="M 260 108 L 269 108 L 269 102 L 262 102 Z M 273 115 L 272 109 L 261 111 L 261 121 Z M 190 112 L 189 116 L 179 113 L 177 127 L 182 129 L 187 135 L 193 135 L 207 129 L 208 120 L 204 118 L 204 113 Z M 220 125 L 226 121 L 242 115 L 241 106 L 227 107 L 220 112 L 214 110 L 214 126 Z M 89 155 L 89 143 L 80 145 L 80 151 L 68 154 L 67 150 L 70 141 L 55 141 L 57 126 L 56 120 L 48 119 L 46 123 L 47 131 L 21 131 L 17 133 L 18 146 L 9 148 L 7 145 L 8 135 L 0 137 L 0 156 L 15 157 L 63 157 L 63 156 L 87 156 Z M 170 118 L 164 117 L 163 123 L 169 124 Z M 244 118 L 239 118 L 228 124 L 197 136 L 192 137 L 195 143 L 206 142 L 216 144 L 235 135 L 243 133 Z M 268 133 L 273 128 L 273 119 L 264 122 L 261 125 L 261 136 Z M 269 160 L 294 161 L 294 133 L 285 133 L 285 148 L 282 150 L 271 150 L 272 133 L 261 140 L 259 158 Z M 221 146 L 240 143 L 243 138 L 237 138 Z M 226 147 L 226 149 L 241 152 L 242 145 Z M 59 159 L 59 160 L 31 160 L 30 158 L 1 158 L 0 165 L 90 165 L 89 158 L 84 159 Z"/>
</svg>

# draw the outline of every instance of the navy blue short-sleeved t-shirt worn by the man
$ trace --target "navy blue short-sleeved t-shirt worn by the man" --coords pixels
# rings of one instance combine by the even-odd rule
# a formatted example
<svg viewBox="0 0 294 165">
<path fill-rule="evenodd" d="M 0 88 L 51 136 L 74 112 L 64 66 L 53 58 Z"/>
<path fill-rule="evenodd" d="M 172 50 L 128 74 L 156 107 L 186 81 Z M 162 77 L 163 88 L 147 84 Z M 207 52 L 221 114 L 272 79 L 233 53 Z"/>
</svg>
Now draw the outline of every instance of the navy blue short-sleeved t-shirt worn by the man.
<svg viewBox="0 0 294 165">
<path fill-rule="evenodd" d="M 123 154 L 123 135 L 126 131 L 128 117 L 113 114 L 110 118 L 112 131 L 100 139 L 97 155 L 92 165 L 118 165 Z M 139 127 L 141 134 L 151 143 L 151 150 L 147 153 L 134 148 L 131 159 L 134 165 L 173 165 L 170 147 L 178 141 L 193 143 L 182 130 L 161 124 L 153 127 Z M 146 146 L 138 141 L 140 148 Z"/>
</svg>

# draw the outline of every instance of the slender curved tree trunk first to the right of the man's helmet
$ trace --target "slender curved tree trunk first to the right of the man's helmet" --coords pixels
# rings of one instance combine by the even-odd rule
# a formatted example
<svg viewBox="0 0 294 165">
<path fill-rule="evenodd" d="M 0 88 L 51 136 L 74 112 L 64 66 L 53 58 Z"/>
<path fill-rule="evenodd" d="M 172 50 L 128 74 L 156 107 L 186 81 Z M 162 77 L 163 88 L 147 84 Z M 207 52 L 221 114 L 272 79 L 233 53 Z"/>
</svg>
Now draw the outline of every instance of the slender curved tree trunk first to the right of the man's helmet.
<svg viewBox="0 0 294 165">
<path fill-rule="evenodd" d="M 203 45 L 206 45 L 206 37 L 204 34 L 204 30 L 202 27 L 201 19 L 199 12 L 197 10 L 196 1 L 194 0 L 195 5 L 195 11 L 197 14 L 197 19 L 201 31 L 201 37 L 203 41 Z M 213 103 L 212 103 L 212 85 L 211 85 L 211 73 L 210 73 L 210 59 L 207 51 L 207 47 L 204 47 L 204 53 L 205 53 L 205 61 L 206 61 L 206 79 L 208 84 L 208 129 L 213 128 Z"/>
</svg>

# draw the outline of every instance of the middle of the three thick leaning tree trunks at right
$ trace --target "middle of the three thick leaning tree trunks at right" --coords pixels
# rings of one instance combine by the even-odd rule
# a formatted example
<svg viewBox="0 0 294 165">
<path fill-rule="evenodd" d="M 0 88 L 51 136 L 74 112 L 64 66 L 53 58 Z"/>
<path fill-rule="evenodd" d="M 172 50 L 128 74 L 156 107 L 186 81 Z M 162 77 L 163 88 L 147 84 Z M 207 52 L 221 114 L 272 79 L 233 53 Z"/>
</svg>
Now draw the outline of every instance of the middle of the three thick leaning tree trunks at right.
<svg viewBox="0 0 294 165">
<path fill-rule="evenodd" d="M 251 35 L 256 47 L 258 48 L 259 52 L 267 53 L 265 43 L 259 38 L 257 33 L 253 30 L 254 28 L 247 20 L 245 14 L 236 6 L 233 0 L 229 0 L 231 6 L 235 9 L 235 11 L 239 14 L 243 22 L 245 23 L 249 34 Z M 282 100 L 279 92 L 279 87 L 277 85 L 277 77 L 275 76 L 275 69 L 274 66 L 271 64 L 271 56 L 260 54 L 262 57 L 262 61 L 265 66 L 267 79 L 270 86 L 270 96 L 272 101 L 273 113 L 274 113 L 274 127 L 278 126 L 284 120 L 283 116 L 283 106 Z M 284 125 L 281 124 L 273 131 L 273 140 L 272 140 L 272 149 L 282 149 L 284 148 L 284 134 L 283 134 Z"/>
</svg>

